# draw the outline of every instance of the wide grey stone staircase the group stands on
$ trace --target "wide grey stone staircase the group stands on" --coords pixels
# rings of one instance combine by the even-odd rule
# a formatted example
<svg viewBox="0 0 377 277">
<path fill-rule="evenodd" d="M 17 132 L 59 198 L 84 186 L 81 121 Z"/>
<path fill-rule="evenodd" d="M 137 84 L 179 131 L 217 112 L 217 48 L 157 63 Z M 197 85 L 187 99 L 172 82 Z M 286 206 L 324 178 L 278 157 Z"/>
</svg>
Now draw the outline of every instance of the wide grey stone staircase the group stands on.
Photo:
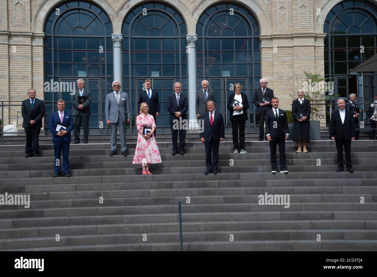
<svg viewBox="0 0 377 277">
<path fill-rule="evenodd" d="M 177 251 L 178 201 L 185 251 L 377 250 L 377 141 L 352 142 L 354 173 L 335 172 L 332 141 L 310 142 L 310 153 L 288 141 L 288 174 L 271 173 L 266 141 L 247 142 L 247 154 L 221 142 L 217 175 L 204 175 L 201 142 L 184 156 L 167 138 L 158 147 L 162 164 L 141 176 L 132 140 L 126 158 L 108 143 L 71 144 L 71 177 L 52 178 L 52 144 L 28 159 L 23 145 L 0 146 L 0 194 L 31 200 L 0 205 L 0 250 Z M 289 194 L 289 208 L 259 205 L 265 193 Z"/>
</svg>

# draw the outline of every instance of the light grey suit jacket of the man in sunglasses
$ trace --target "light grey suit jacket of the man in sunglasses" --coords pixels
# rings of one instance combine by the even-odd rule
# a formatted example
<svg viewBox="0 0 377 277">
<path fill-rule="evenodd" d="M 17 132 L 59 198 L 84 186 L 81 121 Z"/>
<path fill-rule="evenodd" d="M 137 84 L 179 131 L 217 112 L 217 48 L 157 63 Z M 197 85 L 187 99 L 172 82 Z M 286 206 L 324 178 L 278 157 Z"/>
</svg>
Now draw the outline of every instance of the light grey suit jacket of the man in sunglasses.
<svg viewBox="0 0 377 277">
<path fill-rule="evenodd" d="M 131 119 L 131 106 L 128 94 L 121 91 L 119 93 L 119 104 L 116 101 L 114 92 L 106 95 L 105 114 L 106 120 L 110 120 L 110 123 L 117 123 L 119 116 L 123 122 L 126 122 L 127 118 Z"/>
</svg>

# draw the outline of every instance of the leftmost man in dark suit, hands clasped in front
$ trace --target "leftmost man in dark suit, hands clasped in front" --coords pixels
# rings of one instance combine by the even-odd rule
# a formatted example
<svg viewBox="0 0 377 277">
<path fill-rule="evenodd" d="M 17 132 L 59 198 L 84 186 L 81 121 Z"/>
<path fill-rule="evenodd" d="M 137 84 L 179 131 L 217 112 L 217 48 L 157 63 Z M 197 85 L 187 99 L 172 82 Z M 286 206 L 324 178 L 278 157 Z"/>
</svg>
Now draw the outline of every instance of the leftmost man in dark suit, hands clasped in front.
<svg viewBox="0 0 377 277">
<path fill-rule="evenodd" d="M 42 128 L 42 118 L 44 116 L 44 103 L 35 98 L 35 89 L 28 90 L 29 98 L 22 101 L 21 114 L 23 117 L 22 127 L 25 129 L 26 145 L 25 158 L 39 157 L 39 133 Z"/>
</svg>

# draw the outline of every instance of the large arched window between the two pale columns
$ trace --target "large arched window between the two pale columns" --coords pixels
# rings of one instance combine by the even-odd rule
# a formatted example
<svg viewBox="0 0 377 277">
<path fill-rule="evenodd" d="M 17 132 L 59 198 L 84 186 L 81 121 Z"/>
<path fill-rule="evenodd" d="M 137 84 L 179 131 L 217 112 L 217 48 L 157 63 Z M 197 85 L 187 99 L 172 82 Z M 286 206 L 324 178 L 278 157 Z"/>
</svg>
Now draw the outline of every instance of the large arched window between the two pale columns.
<svg viewBox="0 0 377 277">
<path fill-rule="evenodd" d="M 186 27 L 179 13 L 164 3 L 149 2 L 133 9 L 123 23 L 123 89 L 129 90 L 133 118 L 138 114 L 138 91 L 152 79 L 159 92 L 157 126 L 170 132 L 167 97 L 173 83 L 187 95 Z"/>
</svg>

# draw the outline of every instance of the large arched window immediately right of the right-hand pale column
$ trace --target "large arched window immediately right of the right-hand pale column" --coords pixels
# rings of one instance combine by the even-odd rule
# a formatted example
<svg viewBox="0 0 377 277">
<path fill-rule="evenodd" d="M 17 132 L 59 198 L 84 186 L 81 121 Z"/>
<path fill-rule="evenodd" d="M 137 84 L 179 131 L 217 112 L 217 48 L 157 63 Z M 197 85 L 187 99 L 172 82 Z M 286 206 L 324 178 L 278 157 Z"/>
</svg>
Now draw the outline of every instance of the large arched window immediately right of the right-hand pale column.
<svg viewBox="0 0 377 277">
<path fill-rule="evenodd" d="M 261 78 L 259 24 L 247 8 L 236 3 L 219 3 L 208 8 L 196 25 L 198 35 L 198 87 L 207 79 L 215 90 L 219 112 L 227 114 L 227 96 L 233 93 L 231 84 L 239 82 L 250 100 L 250 124 L 255 131 L 252 105 L 254 87 Z M 228 130 L 231 132 L 231 130 Z"/>
</svg>

